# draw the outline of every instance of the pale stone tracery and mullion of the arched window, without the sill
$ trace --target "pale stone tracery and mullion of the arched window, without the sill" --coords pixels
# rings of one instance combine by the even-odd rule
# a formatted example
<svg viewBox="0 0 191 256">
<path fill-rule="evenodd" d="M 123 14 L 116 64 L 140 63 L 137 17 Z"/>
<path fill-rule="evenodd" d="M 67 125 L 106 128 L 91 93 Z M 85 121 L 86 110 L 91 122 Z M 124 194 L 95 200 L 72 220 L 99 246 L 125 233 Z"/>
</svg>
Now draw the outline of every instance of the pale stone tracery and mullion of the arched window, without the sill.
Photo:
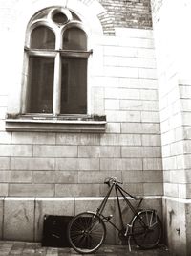
<svg viewBox="0 0 191 256">
<path fill-rule="evenodd" d="M 64 25 L 55 25 L 52 18 L 53 18 L 53 12 L 60 11 L 63 13 L 67 13 L 67 17 L 69 20 L 69 23 L 64 24 Z M 86 32 L 85 26 L 77 20 L 71 20 L 72 19 L 72 14 L 69 10 L 64 10 L 63 8 L 56 8 L 53 9 L 51 12 L 49 12 L 49 15 L 47 17 L 47 20 L 35 20 L 32 22 L 32 24 L 29 25 L 29 28 L 27 30 L 27 36 L 26 36 L 26 44 L 24 47 L 25 50 L 25 57 L 26 57 L 26 66 L 27 70 L 29 70 L 29 57 L 30 56 L 36 56 L 36 57 L 46 57 L 46 58 L 54 58 L 54 80 L 53 80 L 53 117 L 58 116 L 61 114 L 61 57 L 67 57 L 67 58 L 86 58 L 87 59 L 87 73 L 88 73 L 88 58 L 89 56 L 93 53 L 93 50 L 87 50 L 87 51 L 82 51 L 82 50 L 64 50 L 62 49 L 62 38 L 66 30 L 71 29 L 71 28 L 78 28 L 82 30 L 86 36 L 87 36 L 87 41 L 88 41 L 88 35 Z M 39 26 L 45 26 L 49 29 L 51 29 L 55 35 L 55 49 L 31 49 L 30 48 L 30 39 L 32 35 L 32 31 L 39 27 Z M 26 70 L 26 72 L 27 72 Z M 26 74 L 26 73 L 25 73 Z M 88 75 L 87 75 L 88 76 Z M 87 79 L 88 83 L 88 79 Z M 28 77 L 25 77 L 24 84 L 26 89 L 24 90 L 24 93 L 22 95 L 22 109 L 21 113 L 22 114 L 28 114 L 27 113 L 27 105 L 25 102 L 25 99 L 27 97 L 27 85 L 29 84 L 28 82 Z M 88 84 L 86 84 L 87 86 Z M 88 90 L 88 86 L 87 86 Z M 87 104 L 87 113 L 88 114 L 88 91 L 87 91 L 87 99 L 86 99 L 86 104 Z M 63 114 L 64 115 L 64 114 Z"/>
</svg>

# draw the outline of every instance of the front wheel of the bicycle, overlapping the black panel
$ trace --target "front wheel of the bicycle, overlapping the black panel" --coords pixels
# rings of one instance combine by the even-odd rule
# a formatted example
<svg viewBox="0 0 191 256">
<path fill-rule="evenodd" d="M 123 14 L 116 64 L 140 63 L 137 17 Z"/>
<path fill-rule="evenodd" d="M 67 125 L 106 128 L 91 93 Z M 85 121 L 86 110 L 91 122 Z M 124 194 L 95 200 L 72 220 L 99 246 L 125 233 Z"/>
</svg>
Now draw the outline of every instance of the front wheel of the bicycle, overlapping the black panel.
<svg viewBox="0 0 191 256">
<path fill-rule="evenodd" d="M 68 239 L 75 251 L 83 254 L 95 252 L 106 235 L 104 222 L 94 213 L 76 215 L 68 226 Z"/>
</svg>

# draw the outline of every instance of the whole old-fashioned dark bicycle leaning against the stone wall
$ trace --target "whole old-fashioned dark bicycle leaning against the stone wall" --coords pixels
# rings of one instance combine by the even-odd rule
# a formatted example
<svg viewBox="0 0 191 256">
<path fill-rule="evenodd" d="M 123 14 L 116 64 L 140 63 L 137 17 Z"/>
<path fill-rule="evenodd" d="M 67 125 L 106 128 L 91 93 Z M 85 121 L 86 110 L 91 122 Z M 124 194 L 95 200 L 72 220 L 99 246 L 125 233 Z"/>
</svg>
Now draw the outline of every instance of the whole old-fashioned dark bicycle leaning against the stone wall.
<svg viewBox="0 0 191 256">
<path fill-rule="evenodd" d="M 105 222 L 109 222 L 117 229 L 120 238 L 128 240 L 130 251 L 131 238 L 133 238 L 135 244 L 141 249 L 152 249 L 156 247 L 162 235 L 161 221 L 157 211 L 155 209 L 140 209 L 139 207 L 143 198 L 133 196 L 125 191 L 121 185 L 119 185 L 122 184 L 122 182 L 117 181 L 117 178 L 107 178 L 104 183 L 109 186 L 109 190 L 96 209 L 96 212 L 87 211 L 80 213 L 74 216 L 68 225 L 68 239 L 74 250 L 82 254 L 96 252 L 101 244 L 104 243 L 106 237 Z M 111 221 L 112 215 L 103 215 L 103 210 L 113 189 L 115 189 L 116 192 L 120 227 Z M 122 196 L 123 201 L 126 202 L 133 213 L 131 221 L 126 225 L 124 224 L 122 216 L 119 195 Z M 130 202 L 129 197 L 138 201 L 136 207 Z"/>
</svg>

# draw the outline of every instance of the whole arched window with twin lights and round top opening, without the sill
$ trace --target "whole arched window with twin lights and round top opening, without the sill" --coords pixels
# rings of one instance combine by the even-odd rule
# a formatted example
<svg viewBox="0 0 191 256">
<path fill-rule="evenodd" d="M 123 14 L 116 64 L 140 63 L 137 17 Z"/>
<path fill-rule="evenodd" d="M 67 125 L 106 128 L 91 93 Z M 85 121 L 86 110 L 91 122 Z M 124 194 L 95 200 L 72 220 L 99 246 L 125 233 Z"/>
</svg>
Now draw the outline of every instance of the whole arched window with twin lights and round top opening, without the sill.
<svg viewBox="0 0 191 256">
<path fill-rule="evenodd" d="M 49 8 L 27 30 L 22 113 L 87 113 L 87 34 L 79 17 Z"/>
</svg>

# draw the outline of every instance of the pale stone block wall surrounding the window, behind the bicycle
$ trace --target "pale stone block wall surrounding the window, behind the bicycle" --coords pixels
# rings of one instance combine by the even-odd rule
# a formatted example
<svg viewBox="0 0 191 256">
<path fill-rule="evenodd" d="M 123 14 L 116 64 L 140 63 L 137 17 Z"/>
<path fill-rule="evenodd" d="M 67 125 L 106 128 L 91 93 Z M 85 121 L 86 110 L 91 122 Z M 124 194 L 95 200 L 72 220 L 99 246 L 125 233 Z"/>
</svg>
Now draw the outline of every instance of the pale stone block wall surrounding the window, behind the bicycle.
<svg viewBox="0 0 191 256">
<path fill-rule="evenodd" d="M 103 6 L 97 1 L 26 2 L 4 1 L 0 7 L 2 36 L 6 38 L 3 50 L 14 48 L 8 52 L 1 48 L 0 60 L 5 68 L 0 85 L 2 238 L 40 240 L 44 214 L 74 215 L 96 209 L 106 192 L 103 180 L 108 176 L 117 176 L 130 193 L 149 198 L 150 206 L 157 207 L 161 215 L 159 101 L 152 31 L 142 29 L 141 24 L 138 28 L 138 19 L 137 29 L 126 28 L 131 27 L 128 23 L 117 28 L 115 12 L 115 36 L 97 33 L 106 1 Z M 93 48 L 89 107 L 93 113 L 106 115 L 106 131 L 8 132 L 6 113 L 19 109 L 15 103 L 19 103 L 22 90 L 24 28 L 30 13 L 61 2 L 96 22 L 87 24 Z M 148 5 L 144 8 L 150 12 Z M 149 201 L 145 205 L 149 207 Z M 115 212 L 115 202 L 109 209 Z M 19 231 L 18 226 L 22 227 Z M 114 243 L 115 235 L 111 240 Z"/>
</svg>

